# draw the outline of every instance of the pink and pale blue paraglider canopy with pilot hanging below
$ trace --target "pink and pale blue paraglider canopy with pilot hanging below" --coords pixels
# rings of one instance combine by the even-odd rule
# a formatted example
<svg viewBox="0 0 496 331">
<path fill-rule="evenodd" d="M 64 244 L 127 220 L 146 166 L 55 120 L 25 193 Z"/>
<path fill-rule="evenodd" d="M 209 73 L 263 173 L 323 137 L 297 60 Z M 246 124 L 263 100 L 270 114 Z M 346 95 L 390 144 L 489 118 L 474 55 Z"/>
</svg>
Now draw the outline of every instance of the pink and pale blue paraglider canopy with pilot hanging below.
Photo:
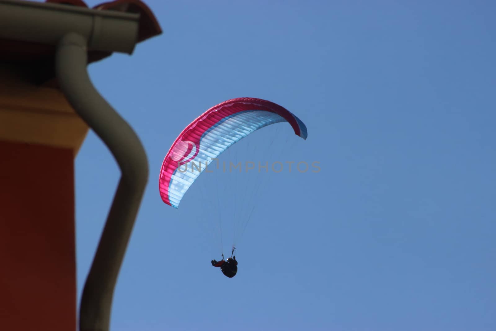
<svg viewBox="0 0 496 331">
<path fill-rule="evenodd" d="M 296 135 L 307 139 L 307 127 L 298 117 L 267 100 L 236 98 L 210 108 L 186 126 L 165 156 L 159 176 L 160 197 L 178 208 L 198 176 L 208 164 L 218 161 L 221 153 L 250 133 L 281 122 L 289 123 Z M 190 169 L 187 169 L 188 164 L 191 164 Z M 233 245 L 231 258 L 227 261 L 224 254 L 221 261 L 211 261 L 229 278 L 238 271 L 234 250 Z"/>
</svg>

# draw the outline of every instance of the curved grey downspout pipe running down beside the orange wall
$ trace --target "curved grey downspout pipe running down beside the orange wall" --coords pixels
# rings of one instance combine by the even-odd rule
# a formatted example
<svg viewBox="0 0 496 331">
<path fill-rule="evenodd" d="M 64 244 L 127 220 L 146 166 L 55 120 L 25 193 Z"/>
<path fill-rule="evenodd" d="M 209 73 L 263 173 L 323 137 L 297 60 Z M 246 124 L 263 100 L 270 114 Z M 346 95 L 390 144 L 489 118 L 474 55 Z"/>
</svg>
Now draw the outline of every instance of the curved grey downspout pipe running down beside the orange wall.
<svg viewBox="0 0 496 331">
<path fill-rule="evenodd" d="M 148 161 L 136 133 L 91 83 L 87 44 L 80 34 L 63 36 L 56 49 L 56 72 L 68 102 L 108 146 L 122 171 L 79 311 L 80 331 L 108 331 L 114 288 L 148 180 Z"/>
</svg>

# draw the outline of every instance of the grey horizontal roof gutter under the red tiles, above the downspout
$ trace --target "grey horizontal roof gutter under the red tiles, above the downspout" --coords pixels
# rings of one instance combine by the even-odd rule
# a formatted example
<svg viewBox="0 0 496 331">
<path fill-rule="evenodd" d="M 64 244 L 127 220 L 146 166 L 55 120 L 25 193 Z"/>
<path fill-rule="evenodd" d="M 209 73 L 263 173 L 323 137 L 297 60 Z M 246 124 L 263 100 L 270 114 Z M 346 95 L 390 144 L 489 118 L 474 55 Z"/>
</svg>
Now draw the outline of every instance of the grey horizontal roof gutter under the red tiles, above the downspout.
<svg viewBox="0 0 496 331">
<path fill-rule="evenodd" d="M 139 14 L 57 3 L 0 0 L 0 38 L 57 45 L 67 33 L 87 40 L 89 50 L 131 54 Z"/>
</svg>

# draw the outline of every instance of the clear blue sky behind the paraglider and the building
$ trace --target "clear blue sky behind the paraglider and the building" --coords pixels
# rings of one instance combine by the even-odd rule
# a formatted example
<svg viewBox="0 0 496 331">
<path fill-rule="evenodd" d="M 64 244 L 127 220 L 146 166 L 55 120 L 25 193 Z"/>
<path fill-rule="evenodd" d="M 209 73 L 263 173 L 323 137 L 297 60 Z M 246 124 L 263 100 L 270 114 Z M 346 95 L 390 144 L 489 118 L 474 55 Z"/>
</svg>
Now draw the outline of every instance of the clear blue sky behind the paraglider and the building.
<svg viewBox="0 0 496 331">
<path fill-rule="evenodd" d="M 89 66 L 150 164 L 112 330 L 496 330 L 495 2 L 147 2 L 164 33 Z M 203 174 L 176 210 L 158 175 L 190 121 L 244 96 L 297 114 L 309 138 L 278 125 L 280 160 L 321 171 L 272 174 L 229 279 L 210 265 L 219 216 L 202 190 L 253 181 L 217 189 Z M 79 295 L 119 177 L 90 132 L 76 158 Z M 227 231 L 237 209 L 221 208 Z"/>
</svg>

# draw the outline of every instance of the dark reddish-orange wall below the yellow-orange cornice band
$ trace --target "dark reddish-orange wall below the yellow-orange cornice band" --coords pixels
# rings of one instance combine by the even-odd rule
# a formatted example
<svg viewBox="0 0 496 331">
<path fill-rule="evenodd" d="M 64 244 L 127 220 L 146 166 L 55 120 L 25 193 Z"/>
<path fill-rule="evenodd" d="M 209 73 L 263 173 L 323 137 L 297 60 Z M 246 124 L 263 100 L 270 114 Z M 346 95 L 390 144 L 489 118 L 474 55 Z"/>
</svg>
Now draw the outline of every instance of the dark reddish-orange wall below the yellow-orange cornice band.
<svg viewBox="0 0 496 331">
<path fill-rule="evenodd" d="M 76 330 L 73 159 L 0 141 L 0 330 Z"/>
</svg>

